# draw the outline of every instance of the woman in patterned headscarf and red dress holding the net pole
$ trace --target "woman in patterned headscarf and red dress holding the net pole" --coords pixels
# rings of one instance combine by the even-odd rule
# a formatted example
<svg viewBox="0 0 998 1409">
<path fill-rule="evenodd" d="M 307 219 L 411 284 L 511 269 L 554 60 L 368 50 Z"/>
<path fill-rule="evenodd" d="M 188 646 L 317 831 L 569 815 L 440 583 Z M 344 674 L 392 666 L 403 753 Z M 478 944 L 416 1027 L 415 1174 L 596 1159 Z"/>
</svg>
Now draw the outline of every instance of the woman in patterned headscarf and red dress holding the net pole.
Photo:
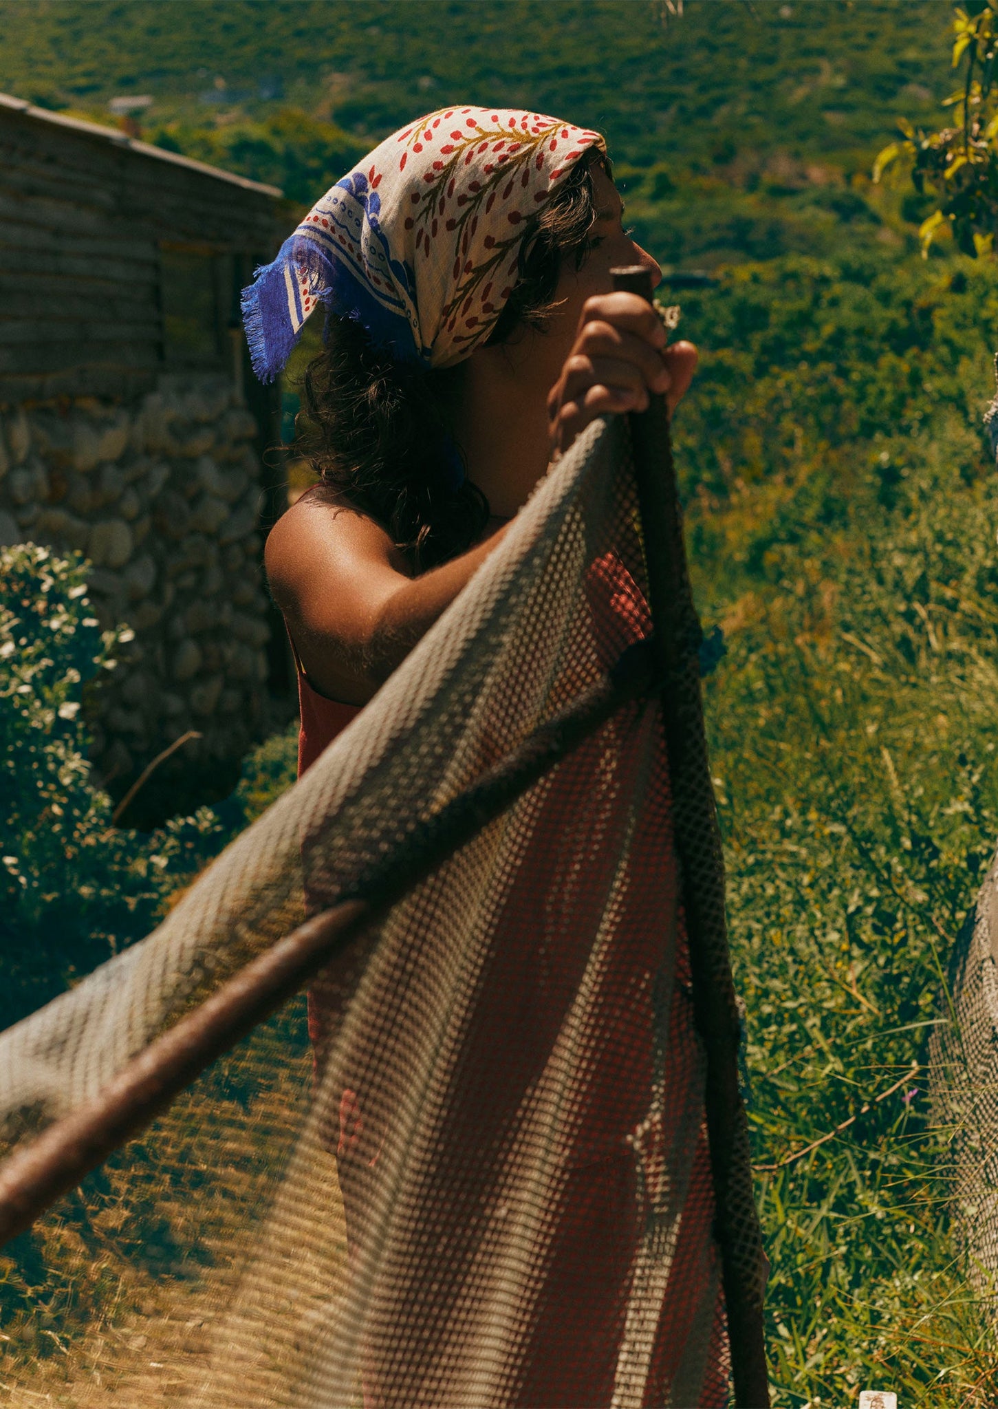
<svg viewBox="0 0 998 1409">
<path fill-rule="evenodd" d="M 304 378 L 321 482 L 266 544 L 271 590 L 299 665 L 300 771 L 457 597 L 551 461 L 593 418 L 641 410 L 651 393 L 675 407 L 689 385 L 695 349 L 667 348 L 655 313 L 634 294 L 610 292 L 616 265 L 641 263 L 661 278 L 622 217 L 599 134 L 537 114 L 448 108 L 378 147 L 247 290 L 247 330 L 264 376 L 283 365 L 316 303 L 327 310 L 326 349 Z M 543 865 L 534 883 L 543 885 Z M 481 1045 L 493 1067 L 516 1065 L 517 1054 L 496 1051 L 496 1041 L 531 972 L 529 948 L 529 934 L 510 933 L 506 971 L 496 969 L 500 992 L 482 1012 L 481 1030 L 492 1037 Z M 337 983 L 331 975 L 310 995 L 320 1060 Z M 674 1043 L 694 1041 L 684 1022 L 672 1023 Z M 541 1014 L 534 1029 L 543 1027 Z M 472 1088 L 469 1120 L 475 1103 L 502 1105 L 488 1057 Z M 345 1091 L 337 1154 L 348 1226 L 351 1181 L 378 1154 L 364 1120 L 362 1092 Z M 634 1113 L 613 1120 L 620 1144 Z M 696 1161 L 703 1167 L 702 1141 Z M 620 1288 L 637 1237 L 617 1213 L 633 1202 L 630 1178 L 619 1160 L 578 1171 L 579 1186 L 588 1185 L 562 1210 L 519 1405 L 610 1403 Z M 710 1255 L 709 1220 L 703 1203 L 684 1226 L 679 1264 Z M 663 1394 L 685 1353 L 682 1315 L 677 1305 L 660 1327 Z M 710 1355 L 705 1406 L 726 1402 L 720 1319 Z M 371 1402 L 381 1399 L 376 1379 L 376 1370 L 365 1372 Z"/>
</svg>

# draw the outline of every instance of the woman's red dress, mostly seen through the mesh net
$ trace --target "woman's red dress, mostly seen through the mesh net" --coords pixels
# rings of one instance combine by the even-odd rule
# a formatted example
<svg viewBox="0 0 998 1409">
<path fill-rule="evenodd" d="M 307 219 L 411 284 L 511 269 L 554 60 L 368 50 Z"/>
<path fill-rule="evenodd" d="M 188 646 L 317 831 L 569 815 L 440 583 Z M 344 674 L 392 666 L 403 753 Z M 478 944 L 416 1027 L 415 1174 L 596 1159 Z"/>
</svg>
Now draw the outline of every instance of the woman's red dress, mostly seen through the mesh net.
<svg viewBox="0 0 998 1409">
<path fill-rule="evenodd" d="M 647 604 L 616 555 L 592 565 L 586 586 L 600 657 L 610 664 L 627 645 L 647 634 Z M 299 695 L 299 771 L 303 772 L 354 719 L 357 707 L 317 695 L 302 674 Z M 629 712 L 627 719 L 619 720 L 619 727 L 633 730 L 637 713 Z M 641 809 L 630 841 L 630 864 L 641 885 L 629 888 L 623 902 L 624 917 L 609 955 L 603 981 L 600 1061 L 591 1074 L 572 1138 L 571 1172 L 554 1217 L 557 1240 L 546 1267 L 544 1293 L 531 1326 L 523 1379 L 512 1401 L 516 1409 L 606 1409 L 610 1405 L 624 1334 L 627 1288 L 654 1216 L 650 1202 L 654 1189 L 639 1192 L 632 1144 L 637 1140 L 646 1153 L 655 1140 L 668 1146 L 672 1131 L 682 1123 L 684 1107 L 689 1107 L 695 1091 L 691 1084 L 699 1079 L 667 757 L 661 721 L 654 720 L 650 727 L 655 730 L 651 754 L 634 748 L 634 759 L 644 762 L 634 762 L 633 775 L 622 779 L 622 789 L 641 790 L 647 785 L 648 797 L 658 802 Z M 572 943 L 574 896 L 550 895 L 547 876 L 551 850 L 557 850 L 561 838 L 568 845 L 577 844 L 578 827 L 586 826 L 585 796 L 578 789 L 588 786 L 585 779 L 592 776 L 592 764 L 586 764 L 586 755 L 598 748 L 596 740 L 584 744 L 574 764 L 558 771 L 544 802 L 537 834 L 547 838 L 547 845 L 524 858 L 517 882 L 506 896 L 503 944 L 489 958 L 471 1040 L 451 1089 L 448 1134 L 436 1186 L 448 1191 L 452 1247 L 447 1257 L 452 1257 L 455 1267 L 464 1255 L 462 1226 L 474 1227 L 481 1205 L 489 1198 L 489 1148 L 495 1134 L 515 1122 L 516 1103 L 543 1069 L 586 962 L 588 952 L 579 952 L 579 945 Z M 648 772 L 648 757 L 651 776 L 643 776 L 641 769 L 646 775 Z M 605 848 L 605 854 L 612 857 L 613 847 Z M 596 841 L 592 854 L 595 871 L 599 871 L 600 859 Z M 658 1124 L 651 1123 L 650 1127 L 646 1117 L 653 1086 L 654 1044 L 648 1034 L 655 1030 L 653 1006 L 661 1006 L 665 998 L 655 991 L 655 981 L 670 938 L 675 962 L 667 1002 L 665 1048 L 660 1053 L 665 1088 Z M 330 972 L 309 993 L 309 1031 L 320 1067 L 347 992 L 343 976 Z M 351 1206 L 361 1203 L 365 1168 L 376 1162 L 381 1147 L 379 1131 L 368 1129 L 368 1124 L 362 1092 L 344 1091 L 334 1138 L 348 1236 Z M 644 1399 L 648 1409 L 672 1402 L 672 1386 L 677 1377 L 682 1381 L 684 1361 L 696 1354 L 691 1350 L 691 1333 L 705 1322 L 713 1323 L 713 1332 L 698 1409 L 722 1409 L 727 1403 L 725 1313 L 716 1291 L 719 1277 L 712 1223 L 713 1193 L 701 1122 L 691 1160 L 689 1192 L 654 1336 Z M 710 1298 L 713 1306 L 705 1298 Z M 390 1343 L 372 1347 L 364 1374 L 365 1406 L 375 1409 L 383 1402 L 378 1388 L 382 1375 L 375 1367 L 381 1364 L 385 1378 L 390 1381 L 390 1361 L 399 1353 L 405 1353 L 405 1347 L 402 1351 Z"/>
</svg>

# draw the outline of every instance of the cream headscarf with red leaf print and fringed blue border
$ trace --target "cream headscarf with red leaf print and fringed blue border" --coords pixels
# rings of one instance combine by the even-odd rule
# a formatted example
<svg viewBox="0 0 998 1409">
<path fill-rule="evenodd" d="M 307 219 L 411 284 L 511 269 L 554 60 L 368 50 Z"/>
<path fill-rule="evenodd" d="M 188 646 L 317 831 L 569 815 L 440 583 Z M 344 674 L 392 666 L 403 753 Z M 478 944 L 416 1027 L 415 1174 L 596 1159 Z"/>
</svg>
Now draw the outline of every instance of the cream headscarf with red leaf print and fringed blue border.
<svg viewBox="0 0 998 1409">
<path fill-rule="evenodd" d="M 448 107 L 386 138 L 319 200 L 242 293 L 254 371 L 273 380 L 317 303 L 399 361 L 450 366 L 488 337 L 533 216 L 599 132 Z"/>
</svg>

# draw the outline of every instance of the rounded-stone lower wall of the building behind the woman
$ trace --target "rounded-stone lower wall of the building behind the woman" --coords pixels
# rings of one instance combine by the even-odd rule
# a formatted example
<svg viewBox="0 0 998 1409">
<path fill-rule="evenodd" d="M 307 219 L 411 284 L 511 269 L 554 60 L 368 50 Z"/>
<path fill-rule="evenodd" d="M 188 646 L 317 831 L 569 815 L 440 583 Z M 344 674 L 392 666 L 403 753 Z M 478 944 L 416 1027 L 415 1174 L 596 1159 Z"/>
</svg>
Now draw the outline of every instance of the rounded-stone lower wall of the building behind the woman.
<svg viewBox="0 0 998 1409">
<path fill-rule="evenodd" d="M 133 404 L 0 410 L 0 544 L 79 550 L 101 624 L 135 633 L 92 704 L 99 775 L 121 796 L 171 743 L 202 734 L 144 786 L 154 819 L 223 796 L 264 721 L 257 435 L 221 376 L 165 376 Z"/>
</svg>

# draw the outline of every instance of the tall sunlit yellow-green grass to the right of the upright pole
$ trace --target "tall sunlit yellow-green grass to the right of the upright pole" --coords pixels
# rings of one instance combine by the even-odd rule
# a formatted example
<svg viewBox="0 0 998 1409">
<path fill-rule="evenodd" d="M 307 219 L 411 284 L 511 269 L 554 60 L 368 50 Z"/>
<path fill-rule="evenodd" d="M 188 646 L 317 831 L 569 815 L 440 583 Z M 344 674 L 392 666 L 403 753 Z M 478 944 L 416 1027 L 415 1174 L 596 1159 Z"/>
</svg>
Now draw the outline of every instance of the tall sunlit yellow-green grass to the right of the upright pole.
<svg viewBox="0 0 998 1409">
<path fill-rule="evenodd" d="M 998 493 L 960 423 L 892 451 L 709 686 L 778 1406 L 998 1402 L 923 1068 L 998 840 Z"/>
</svg>

